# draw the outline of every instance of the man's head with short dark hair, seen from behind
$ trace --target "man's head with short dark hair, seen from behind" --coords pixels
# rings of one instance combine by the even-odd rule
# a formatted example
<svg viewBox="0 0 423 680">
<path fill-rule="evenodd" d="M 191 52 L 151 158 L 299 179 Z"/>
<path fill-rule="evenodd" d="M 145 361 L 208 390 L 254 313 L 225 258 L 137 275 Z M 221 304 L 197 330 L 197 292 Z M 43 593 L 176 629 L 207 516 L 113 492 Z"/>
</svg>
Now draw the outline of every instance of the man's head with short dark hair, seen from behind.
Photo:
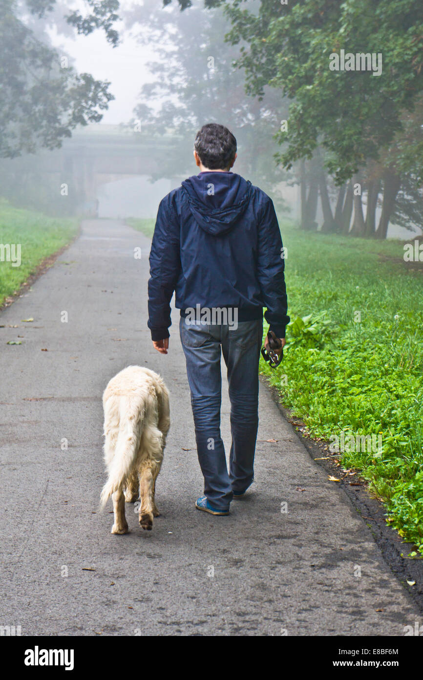
<svg viewBox="0 0 423 680">
<path fill-rule="evenodd" d="M 198 131 L 194 149 L 204 167 L 210 170 L 225 169 L 234 160 L 236 139 L 224 125 L 207 123 Z"/>
</svg>

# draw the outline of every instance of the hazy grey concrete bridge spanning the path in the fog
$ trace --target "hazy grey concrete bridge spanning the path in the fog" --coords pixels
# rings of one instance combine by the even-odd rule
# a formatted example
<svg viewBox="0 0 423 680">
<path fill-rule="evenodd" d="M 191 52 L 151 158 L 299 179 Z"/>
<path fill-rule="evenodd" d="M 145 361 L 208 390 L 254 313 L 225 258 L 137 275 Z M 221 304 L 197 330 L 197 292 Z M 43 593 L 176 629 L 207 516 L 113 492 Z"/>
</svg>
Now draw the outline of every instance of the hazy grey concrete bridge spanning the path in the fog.
<svg viewBox="0 0 423 680">
<path fill-rule="evenodd" d="M 10 185 L 12 203 L 29 203 L 54 214 L 96 216 L 102 186 L 131 177 L 140 182 L 143 178 L 142 188 L 132 190 L 139 194 L 138 205 L 145 200 L 156 209 L 155 194 L 170 190 L 172 178 L 157 184 L 148 180 L 161 177 L 160 166 L 173 145 L 172 135 L 151 139 L 124 126 L 95 124 L 75 131 L 60 149 L 1 159 L 0 170 Z M 179 179 L 173 182 L 174 186 L 178 183 Z M 124 201 L 122 191 L 121 203 Z"/>
</svg>

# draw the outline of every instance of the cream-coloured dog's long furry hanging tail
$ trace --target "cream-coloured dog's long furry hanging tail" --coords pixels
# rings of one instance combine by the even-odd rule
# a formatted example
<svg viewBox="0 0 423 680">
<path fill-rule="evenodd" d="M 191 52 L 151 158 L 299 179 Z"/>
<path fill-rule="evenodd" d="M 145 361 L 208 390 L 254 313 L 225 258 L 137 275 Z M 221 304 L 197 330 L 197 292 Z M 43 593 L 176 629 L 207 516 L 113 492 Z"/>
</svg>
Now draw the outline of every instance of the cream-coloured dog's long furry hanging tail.
<svg viewBox="0 0 423 680">
<path fill-rule="evenodd" d="M 107 407 L 107 405 L 106 405 Z M 109 479 L 100 495 L 100 508 L 104 508 L 111 494 L 122 485 L 134 466 L 138 454 L 145 411 L 136 399 L 119 396 L 119 434 L 113 460 L 109 465 Z"/>
</svg>

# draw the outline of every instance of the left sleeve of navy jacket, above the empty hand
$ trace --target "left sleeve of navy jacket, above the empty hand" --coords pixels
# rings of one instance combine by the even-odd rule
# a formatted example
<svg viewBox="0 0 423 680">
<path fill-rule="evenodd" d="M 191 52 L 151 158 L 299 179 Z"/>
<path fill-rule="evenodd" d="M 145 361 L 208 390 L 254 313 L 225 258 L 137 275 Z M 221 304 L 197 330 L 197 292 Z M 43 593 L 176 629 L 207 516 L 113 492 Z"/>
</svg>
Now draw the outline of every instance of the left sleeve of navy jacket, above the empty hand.
<svg viewBox="0 0 423 680">
<path fill-rule="evenodd" d="M 150 250 L 147 326 L 152 340 L 169 337 L 170 300 L 181 272 L 179 221 L 170 196 L 160 202 Z"/>
</svg>

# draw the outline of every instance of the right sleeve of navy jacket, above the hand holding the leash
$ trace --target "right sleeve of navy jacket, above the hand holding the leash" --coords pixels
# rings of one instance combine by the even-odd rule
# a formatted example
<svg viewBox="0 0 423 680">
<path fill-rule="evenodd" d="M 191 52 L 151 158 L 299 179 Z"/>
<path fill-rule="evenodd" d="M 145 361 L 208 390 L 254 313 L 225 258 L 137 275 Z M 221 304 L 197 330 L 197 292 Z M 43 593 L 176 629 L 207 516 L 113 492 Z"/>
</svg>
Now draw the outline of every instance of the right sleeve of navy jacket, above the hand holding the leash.
<svg viewBox="0 0 423 680">
<path fill-rule="evenodd" d="M 267 307 L 264 318 L 269 330 L 273 330 L 276 337 L 284 338 L 289 316 L 282 238 L 273 201 L 268 196 L 259 224 L 257 275 L 263 304 Z"/>
</svg>

